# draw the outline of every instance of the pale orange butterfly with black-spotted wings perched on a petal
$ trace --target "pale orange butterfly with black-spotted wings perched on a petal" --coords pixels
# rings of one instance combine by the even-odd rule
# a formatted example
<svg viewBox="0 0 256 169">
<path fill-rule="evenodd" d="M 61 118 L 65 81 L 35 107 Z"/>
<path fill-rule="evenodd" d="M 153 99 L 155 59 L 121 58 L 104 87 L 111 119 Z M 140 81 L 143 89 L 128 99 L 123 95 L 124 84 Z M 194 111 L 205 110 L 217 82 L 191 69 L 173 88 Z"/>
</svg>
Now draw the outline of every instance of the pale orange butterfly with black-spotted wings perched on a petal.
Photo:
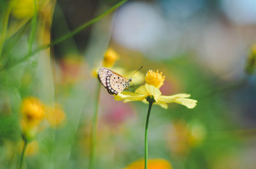
<svg viewBox="0 0 256 169">
<path fill-rule="evenodd" d="M 109 94 L 118 94 L 119 92 L 128 89 L 130 83 L 132 82 L 132 78 L 127 79 L 125 77 L 122 77 L 122 75 L 119 75 L 115 71 L 108 68 L 99 68 L 98 78 L 100 83 L 108 90 Z"/>
</svg>

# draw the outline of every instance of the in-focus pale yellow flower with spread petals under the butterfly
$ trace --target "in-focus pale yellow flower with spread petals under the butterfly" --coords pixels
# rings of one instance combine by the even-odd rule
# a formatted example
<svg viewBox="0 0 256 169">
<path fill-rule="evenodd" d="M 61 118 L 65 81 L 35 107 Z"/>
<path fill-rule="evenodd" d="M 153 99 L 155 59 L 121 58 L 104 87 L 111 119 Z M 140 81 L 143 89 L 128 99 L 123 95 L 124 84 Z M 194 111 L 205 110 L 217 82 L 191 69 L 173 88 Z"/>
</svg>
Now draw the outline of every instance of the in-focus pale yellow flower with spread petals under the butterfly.
<svg viewBox="0 0 256 169">
<path fill-rule="evenodd" d="M 180 93 L 172 96 L 161 95 L 162 93 L 157 87 L 161 87 L 161 85 L 163 85 L 164 77 L 162 73 L 158 73 L 158 71 L 148 71 L 145 81 L 146 84 L 140 86 L 134 93 L 123 91 L 118 93 L 115 96 L 115 99 L 124 100 L 124 102 L 143 101 L 144 103 L 147 103 L 148 96 L 150 98 L 153 96 L 155 103 L 163 108 L 168 108 L 167 103 L 179 103 L 180 105 L 184 105 L 188 108 L 194 108 L 196 106 L 197 101 L 195 99 L 188 99 L 190 94 Z M 150 84 L 147 84 L 147 82 Z"/>
</svg>

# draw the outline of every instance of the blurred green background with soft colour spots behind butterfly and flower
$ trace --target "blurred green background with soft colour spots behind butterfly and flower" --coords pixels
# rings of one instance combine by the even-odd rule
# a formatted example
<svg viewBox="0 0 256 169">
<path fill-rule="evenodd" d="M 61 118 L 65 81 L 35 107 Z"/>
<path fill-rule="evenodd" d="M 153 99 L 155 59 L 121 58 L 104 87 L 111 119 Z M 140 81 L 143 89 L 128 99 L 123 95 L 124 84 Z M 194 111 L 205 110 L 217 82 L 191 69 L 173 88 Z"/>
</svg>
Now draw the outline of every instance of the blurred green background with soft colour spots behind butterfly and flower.
<svg viewBox="0 0 256 169">
<path fill-rule="evenodd" d="M 20 107 L 28 97 L 58 108 L 50 115 L 55 123 L 42 124 L 29 143 L 24 168 L 88 168 L 99 84 L 93 70 L 111 48 L 122 75 L 140 66 L 143 75 L 163 71 L 164 95 L 198 100 L 191 110 L 153 106 L 149 159 L 177 169 L 255 169 L 256 1 L 127 1 L 33 54 L 116 3 L 1 0 L 0 168 L 19 164 Z M 101 87 L 98 106 L 95 168 L 121 169 L 143 158 L 147 105 L 115 101 Z"/>
</svg>

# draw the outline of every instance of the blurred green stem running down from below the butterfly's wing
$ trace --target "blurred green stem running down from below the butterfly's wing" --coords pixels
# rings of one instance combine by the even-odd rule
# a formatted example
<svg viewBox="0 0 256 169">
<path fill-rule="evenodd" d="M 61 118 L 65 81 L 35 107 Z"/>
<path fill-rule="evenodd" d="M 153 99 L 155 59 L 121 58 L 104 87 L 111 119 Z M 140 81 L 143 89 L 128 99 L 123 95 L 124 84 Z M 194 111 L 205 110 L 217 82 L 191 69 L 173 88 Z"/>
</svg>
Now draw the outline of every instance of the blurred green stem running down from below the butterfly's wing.
<svg viewBox="0 0 256 169">
<path fill-rule="evenodd" d="M 93 169 L 95 165 L 95 145 L 97 143 L 97 117 L 98 117 L 98 108 L 99 108 L 99 98 L 100 98 L 100 84 L 97 83 L 97 101 L 95 105 L 95 112 L 93 114 L 93 126 L 92 126 L 92 135 L 91 135 L 91 152 L 90 152 L 90 162 L 89 168 Z"/>
</svg>

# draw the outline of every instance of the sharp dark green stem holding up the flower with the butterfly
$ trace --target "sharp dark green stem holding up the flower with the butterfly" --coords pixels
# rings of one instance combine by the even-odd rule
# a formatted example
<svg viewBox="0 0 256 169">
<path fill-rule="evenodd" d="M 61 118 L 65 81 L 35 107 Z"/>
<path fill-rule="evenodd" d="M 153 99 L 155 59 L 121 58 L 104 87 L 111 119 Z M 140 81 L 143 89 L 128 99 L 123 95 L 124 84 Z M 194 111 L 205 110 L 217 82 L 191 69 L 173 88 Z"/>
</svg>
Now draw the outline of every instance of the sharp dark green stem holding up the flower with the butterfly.
<svg viewBox="0 0 256 169">
<path fill-rule="evenodd" d="M 148 96 L 147 101 L 149 103 L 148 105 L 148 114 L 147 114 L 147 120 L 146 120 L 146 126 L 145 126 L 145 154 L 144 154 L 144 161 L 145 161 L 145 165 L 144 168 L 147 169 L 147 165 L 148 165 L 148 121 L 149 121 L 149 116 L 150 116 L 150 111 L 152 108 L 152 105 L 155 101 L 153 96 Z"/>
</svg>

